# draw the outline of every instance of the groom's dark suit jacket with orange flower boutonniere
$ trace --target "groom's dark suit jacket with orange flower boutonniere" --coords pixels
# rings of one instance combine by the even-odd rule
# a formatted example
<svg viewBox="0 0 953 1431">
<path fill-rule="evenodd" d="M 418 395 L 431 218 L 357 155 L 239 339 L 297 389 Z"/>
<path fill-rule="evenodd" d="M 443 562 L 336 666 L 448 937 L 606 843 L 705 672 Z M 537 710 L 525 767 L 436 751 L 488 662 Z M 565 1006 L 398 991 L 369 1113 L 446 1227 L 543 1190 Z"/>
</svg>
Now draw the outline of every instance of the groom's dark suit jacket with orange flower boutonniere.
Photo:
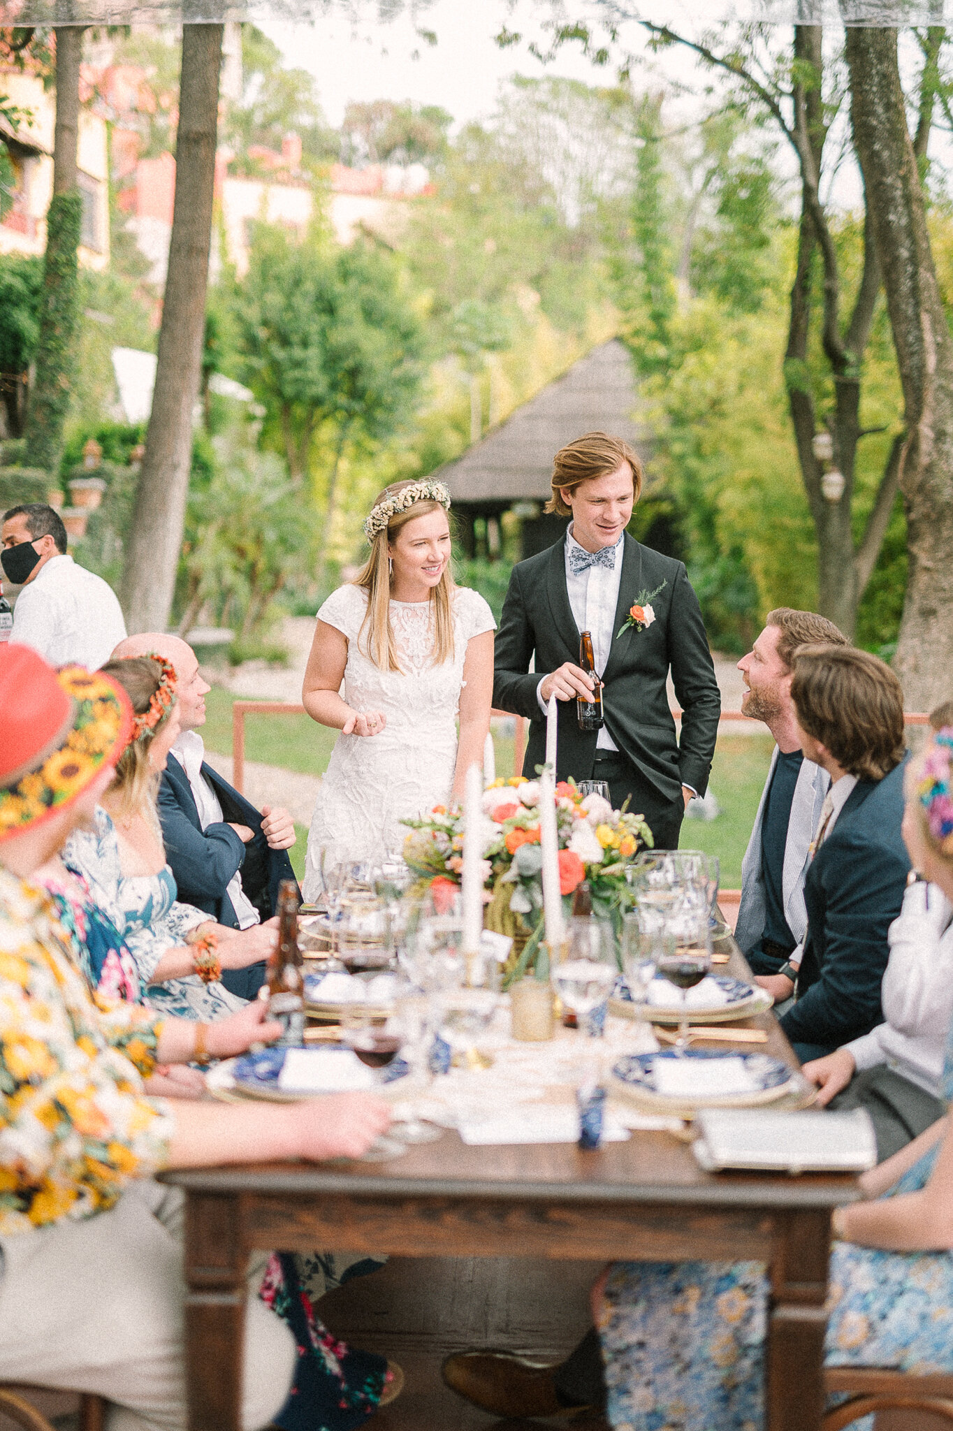
<svg viewBox="0 0 953 1431">
<path fill-rule="evenodd" d="M 664 803 L 681 804 L 683 784 L 703 796 L 718 734 L 721 695 L 698 598 L 685 568 L 625 532 L 612 648 L 602 671 L 605 726 Z M 664 582 L 664 585 L 663 585 Z M 655 621 L 615 633 L 640 592 L 654 591 Z M 529 673 L 535 651 L 537 668 Z M 564 661 L 578 664 L 580 631 L 565 585 L 565 537 L 512 568 L 495 643 L 494 705 L 531 720 L 524 774 L 545 758 L 547 724 L 537 700 L 542 675 Z M 668 708 L 668 668 L 683 708 L 681 743 Z M 557 778 L 588 777 L 597 731 L 580 730 L 575 701 L 559 701 Z"/>
</svg>

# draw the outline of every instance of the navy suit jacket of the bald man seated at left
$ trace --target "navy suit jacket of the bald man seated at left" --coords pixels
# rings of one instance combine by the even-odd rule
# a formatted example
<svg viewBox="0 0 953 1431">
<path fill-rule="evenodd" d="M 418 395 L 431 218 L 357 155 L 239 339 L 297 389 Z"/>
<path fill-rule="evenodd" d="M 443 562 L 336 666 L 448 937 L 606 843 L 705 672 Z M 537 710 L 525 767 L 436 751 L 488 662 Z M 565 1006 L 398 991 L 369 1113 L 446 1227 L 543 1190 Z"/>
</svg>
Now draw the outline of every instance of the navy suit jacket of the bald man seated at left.
<svg viewBox="0 0 953 1431">
<path fill-rule="evenodd" d="M 166 841 L 166 859 L 179 886 L 179 899 L 205 910 L 219 924 L 238 929 L 238 917 L 228 896 L 228 883 L 236 870 L 242 871 L 242 889 L 262 919 L 270 919 L 278 907 L 278 886 L 293 880 L 286 850 L 272 850 L 262 834 L 262 816 L 253 804 L 203 764 L 202 774 L 209 781 L 225 820 L 202 829 L 189 777 L 175 756 L 169 756 L 159 786 L 159 819 Z M 248 824 L 255 830 L 249 844 L 238 837 L 230 824 Z M 265 977 L 265 964 L 246 969 L 226 969 L 222 983 L 232 993 L 252 999 Z"/>
</svg>

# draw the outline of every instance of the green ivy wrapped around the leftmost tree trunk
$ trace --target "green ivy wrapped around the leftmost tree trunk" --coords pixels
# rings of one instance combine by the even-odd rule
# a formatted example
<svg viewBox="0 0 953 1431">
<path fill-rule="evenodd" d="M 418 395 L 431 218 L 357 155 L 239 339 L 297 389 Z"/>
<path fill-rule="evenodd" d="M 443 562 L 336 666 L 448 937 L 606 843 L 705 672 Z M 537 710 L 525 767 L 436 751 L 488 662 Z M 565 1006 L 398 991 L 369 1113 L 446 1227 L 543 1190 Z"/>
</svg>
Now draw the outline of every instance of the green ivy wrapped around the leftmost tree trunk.
<svg viewBox="0 0 953 1431">
<path fill-rule="evenodd" d="M 59 472 L 63 428 L 76 373 L 79 276 L 76 250 L 83 203 L 79 189 L 54 193 L 46 215 L 46 258 L 36 381 L 30 395 L 26 439 L 29 461 Z"/>
</svg>

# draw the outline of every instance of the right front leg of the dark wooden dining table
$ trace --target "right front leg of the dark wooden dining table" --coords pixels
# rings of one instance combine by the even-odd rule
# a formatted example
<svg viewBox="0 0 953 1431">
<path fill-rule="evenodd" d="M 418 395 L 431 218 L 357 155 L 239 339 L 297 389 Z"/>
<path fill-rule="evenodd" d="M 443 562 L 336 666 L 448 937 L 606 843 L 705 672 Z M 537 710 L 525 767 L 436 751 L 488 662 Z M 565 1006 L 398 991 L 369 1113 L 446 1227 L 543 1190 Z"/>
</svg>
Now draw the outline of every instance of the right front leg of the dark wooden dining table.
<svg viewBox="0 0 953 1431">
<path fill-rule="evenodd" d="M 820 1431 L 830 1212 L 776 1215 L 766 1348 L 767 1431 Z"/>
</svg>

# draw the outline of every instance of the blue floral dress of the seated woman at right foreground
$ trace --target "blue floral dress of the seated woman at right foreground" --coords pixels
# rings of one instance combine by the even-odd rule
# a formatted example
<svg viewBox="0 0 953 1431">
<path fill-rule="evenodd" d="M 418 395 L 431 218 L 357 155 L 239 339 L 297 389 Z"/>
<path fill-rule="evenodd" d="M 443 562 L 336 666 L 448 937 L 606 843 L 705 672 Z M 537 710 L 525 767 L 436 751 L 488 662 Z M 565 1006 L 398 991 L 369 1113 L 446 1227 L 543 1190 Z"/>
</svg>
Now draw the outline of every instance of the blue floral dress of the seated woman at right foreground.
<svg viewBox="0 0 953 1431">
<path fill-rule="evenodd" d="M 942 1082 L 953 1100 L 953 1029 Z M 939 1149 L 884 1196 L 926 1186 Z M 615 1431 L 761 1431 L 768 1289 L 763 1262 L 617 1262 L 598 1328 Z M 829 1367 L 949 1375 L 953 1254 L 834 1242 L 827 1315 Z"/>
</svg>

